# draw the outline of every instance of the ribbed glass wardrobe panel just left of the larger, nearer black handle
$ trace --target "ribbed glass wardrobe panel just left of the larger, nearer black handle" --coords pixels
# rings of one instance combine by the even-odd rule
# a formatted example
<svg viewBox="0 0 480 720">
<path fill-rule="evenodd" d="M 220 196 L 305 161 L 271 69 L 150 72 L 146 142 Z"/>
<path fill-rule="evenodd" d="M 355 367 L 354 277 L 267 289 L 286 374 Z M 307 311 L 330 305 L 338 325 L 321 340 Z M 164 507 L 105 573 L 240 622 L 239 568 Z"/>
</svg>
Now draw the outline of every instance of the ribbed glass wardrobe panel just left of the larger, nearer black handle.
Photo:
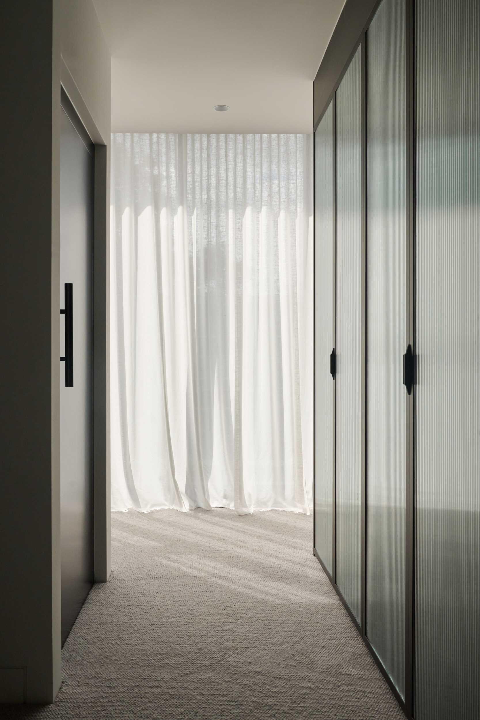
<svg viewBox="0 0 480 720">
<path fill-rule="evenodd" d="M 384 0 L 367 52 L 367 606 L 373 649 L 404 697 L 405 2 Z"/>
</svg>

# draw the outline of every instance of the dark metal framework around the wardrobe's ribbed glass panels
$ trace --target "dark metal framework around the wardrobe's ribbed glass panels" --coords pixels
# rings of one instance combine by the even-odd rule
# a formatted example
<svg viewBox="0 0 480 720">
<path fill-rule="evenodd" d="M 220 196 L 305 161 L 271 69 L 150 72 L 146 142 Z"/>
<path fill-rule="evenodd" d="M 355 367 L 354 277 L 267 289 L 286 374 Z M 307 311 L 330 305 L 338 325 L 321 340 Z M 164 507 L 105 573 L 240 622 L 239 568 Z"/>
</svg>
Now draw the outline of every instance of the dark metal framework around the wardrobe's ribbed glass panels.
<svg viewBox="0 0 480 720">
<path fill-rule="evenodd" d="M 379 666 L 386 682 L 389 684 L 392 693 L 397 698 L 399 705 L 412 719 L 413 713 L 413 680 L 414 680 L 414 640 L 415 640 L 415 382 L 411 394 L 405 392 L 406 402 L 406 457 L 405 457 L 405 480 L 406 480 L 406 512 L 405 512 L 405 700 L 399 695 L 379 657 L 371 647 L 366 636 L 366 84 L 368 81 L 366 68 L 366 33 L 376 15 L 383 0 L 348 0 L 340 16 L 337 27 L 332 35 L 332 40 L 320 65 L 314 81 L 314 132 L 317 130 L 323 115 L 330 102 L 333 103 L 334 112 L 334 179 L 333 179 L 333 237 L 334 237 L 334 266 L 333 287 L 336 298 L 336 93 L 345 72 L 350 66 L 350 61 L 361 46 L 361 115 L 362 115 L 362 170 L 361 170 L 361 197 L 362 197 L 362 259 L 361 259 L 361 622 L 358 624 L 348 604 L 345 602 L 338 585 L 336 584 L 336 571 L 334 561 L 334 572 L 331 576 L 327 572 L 322 560 L 314 549 L 314 555 L 319 560 L 323 570 L 327 573 L 336 593 L 342 601 L 353 623 L 360 632 L 363 642 L 368 647 L 373 659 Z M 404 0 L 405 2 L 405 38 L 406 38 L 406 212 L 407 212 L 407 238 L 406 238 L 406 336 L 408 345 L 412 346 L 415 359 L 415 46 L 414 46 L 414 3 L 415 0 Z M 340 69 L 341 68 L 341 69 Z M 319 112 L 320 109 L 320 112 Z M 333 312 L 333 334 L 334 347 L 336 345 L 336 302 L 334 300 Z M 334 391 L 335 398 L 335 391 Z M 336 445 L 336 418 L 335 401 L 332 410 L 334 429 L 334 448 Z M 336 496 L 336 472 L 335 454 L 333 465 L 333 498 L 334 498 L 334 546 L 333 557 L 335 559 L 336 528 L 335 528 L 335 496 Z"/>
</svg>

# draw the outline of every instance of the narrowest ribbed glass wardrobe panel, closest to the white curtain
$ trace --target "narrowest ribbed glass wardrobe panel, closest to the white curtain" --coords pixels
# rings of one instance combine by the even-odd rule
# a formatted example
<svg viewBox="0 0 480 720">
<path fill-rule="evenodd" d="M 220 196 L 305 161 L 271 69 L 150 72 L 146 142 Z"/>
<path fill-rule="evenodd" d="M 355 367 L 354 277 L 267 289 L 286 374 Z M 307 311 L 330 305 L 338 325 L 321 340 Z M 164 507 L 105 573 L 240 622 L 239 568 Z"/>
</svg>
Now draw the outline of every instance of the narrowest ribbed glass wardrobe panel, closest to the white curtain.
<svg viewBox="0 0 480 720">
<path fill-rule="evenodd" d="M 315 132 L 315 549 L 332 574 L 333 111 Z"/>
</svg>

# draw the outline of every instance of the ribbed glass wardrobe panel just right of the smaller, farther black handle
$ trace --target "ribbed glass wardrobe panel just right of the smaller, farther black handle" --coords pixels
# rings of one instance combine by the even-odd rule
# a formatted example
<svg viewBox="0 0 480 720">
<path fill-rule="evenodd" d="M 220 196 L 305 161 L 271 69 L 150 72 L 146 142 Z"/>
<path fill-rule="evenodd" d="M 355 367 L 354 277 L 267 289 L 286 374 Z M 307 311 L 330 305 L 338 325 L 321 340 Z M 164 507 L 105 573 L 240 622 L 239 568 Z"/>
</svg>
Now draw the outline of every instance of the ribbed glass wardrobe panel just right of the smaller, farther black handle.
<svg viewBox="0 0 480 720">
<path fill-rule="evenodd" d="M 337 584 L 360 621 L 361 50 L 337 91 Z"/>
</svg>

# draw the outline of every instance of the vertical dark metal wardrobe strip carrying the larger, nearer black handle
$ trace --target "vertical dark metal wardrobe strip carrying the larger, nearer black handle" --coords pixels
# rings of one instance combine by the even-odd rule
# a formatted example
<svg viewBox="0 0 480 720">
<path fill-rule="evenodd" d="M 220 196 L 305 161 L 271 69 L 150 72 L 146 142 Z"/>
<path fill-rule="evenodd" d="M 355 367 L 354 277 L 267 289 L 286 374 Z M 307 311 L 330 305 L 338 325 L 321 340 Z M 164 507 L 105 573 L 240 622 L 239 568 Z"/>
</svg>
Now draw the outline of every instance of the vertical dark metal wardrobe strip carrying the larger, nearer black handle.
<svg viewBox="0 0 480 720">
<path fill-rule="evenodd" d="M 405 0 L 407 42 L 407 327 L 406 343 L 415 359 L 415 0 Z M 406 624 L 405 624 L 405 706 L 414 711 L 415 674 L 415 380 L 407 402 L 407 498 L 406 498 Z"/>
</svg>

